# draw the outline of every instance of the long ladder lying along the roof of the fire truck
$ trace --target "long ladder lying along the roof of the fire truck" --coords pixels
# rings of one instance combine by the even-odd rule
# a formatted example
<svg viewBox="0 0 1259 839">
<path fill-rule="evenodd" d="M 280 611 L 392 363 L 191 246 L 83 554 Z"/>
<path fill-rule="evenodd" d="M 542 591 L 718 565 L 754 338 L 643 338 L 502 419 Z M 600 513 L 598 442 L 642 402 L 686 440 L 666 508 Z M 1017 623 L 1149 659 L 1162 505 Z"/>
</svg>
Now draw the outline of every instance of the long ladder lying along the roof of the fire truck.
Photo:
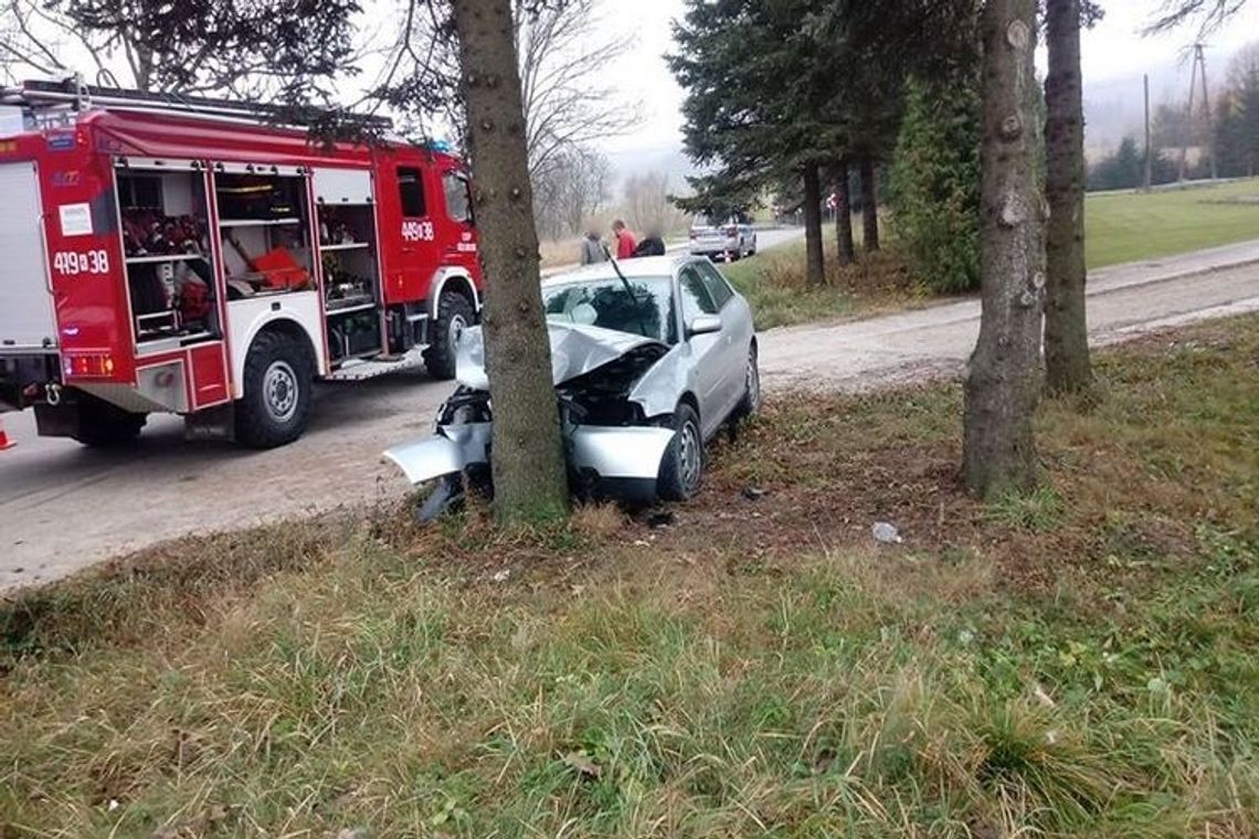
<svg viewBox="0 0 1259 839">
<path fill-rule="evenodd" d="M 107 111 L 162 111 L 283 125 L 311 125 L 320 117 L 326 117 L 331 113 L 316 109 L 300 113 L 296 109 L 258 102 L 217 99 L 203 96 L 185 96 L 183 93 L 151 93 L 120 87 L 98 87 L 84 84 L 78 77 L 71 77 L 62 82 L 26 81 L 21 84 L 0 88 L 0 103 L 30 108 L 68 106 L 76 111 L 84 111 L 91 107 L 104 108 Z M 339 118 L 344 122 L 375 131 L 388 131 L 393 126 L 393 121 L 388 117 L 373 114 L 345 114 Z"/>
</svg>

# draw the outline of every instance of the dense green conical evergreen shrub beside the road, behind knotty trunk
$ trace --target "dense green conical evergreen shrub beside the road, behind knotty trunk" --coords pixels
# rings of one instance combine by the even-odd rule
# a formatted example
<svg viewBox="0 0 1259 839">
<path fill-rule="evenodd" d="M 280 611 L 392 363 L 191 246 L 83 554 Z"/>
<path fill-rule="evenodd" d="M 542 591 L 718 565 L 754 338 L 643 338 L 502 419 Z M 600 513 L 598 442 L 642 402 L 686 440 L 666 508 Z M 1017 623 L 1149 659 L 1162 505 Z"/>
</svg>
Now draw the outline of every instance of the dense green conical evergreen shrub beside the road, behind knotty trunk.
<svg viewBox="0 0 1259 839">
<path fill-rule="evenodd" d="M 980 287 L 980 81 L 912 82 L 891 164 L 891 224 L 937 293 Z"/>
</svg>

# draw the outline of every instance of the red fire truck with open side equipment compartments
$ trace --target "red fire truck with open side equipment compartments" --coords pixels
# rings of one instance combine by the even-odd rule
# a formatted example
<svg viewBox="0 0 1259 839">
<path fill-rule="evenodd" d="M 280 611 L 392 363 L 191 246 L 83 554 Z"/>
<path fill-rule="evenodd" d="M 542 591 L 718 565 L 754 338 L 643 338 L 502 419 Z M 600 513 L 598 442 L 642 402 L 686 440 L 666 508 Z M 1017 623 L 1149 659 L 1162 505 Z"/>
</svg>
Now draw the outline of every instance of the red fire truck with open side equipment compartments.
<svg viewBox="0 0 1259 839">
<path fill-rule="evenodd" d="M 465 166 L 277 113 L 0 89 L 0 411 L 88 445 L 165 411 L 264 448 L 302 433 L 316 379 L 453 375 L 482 293 Z"/>
</svg>

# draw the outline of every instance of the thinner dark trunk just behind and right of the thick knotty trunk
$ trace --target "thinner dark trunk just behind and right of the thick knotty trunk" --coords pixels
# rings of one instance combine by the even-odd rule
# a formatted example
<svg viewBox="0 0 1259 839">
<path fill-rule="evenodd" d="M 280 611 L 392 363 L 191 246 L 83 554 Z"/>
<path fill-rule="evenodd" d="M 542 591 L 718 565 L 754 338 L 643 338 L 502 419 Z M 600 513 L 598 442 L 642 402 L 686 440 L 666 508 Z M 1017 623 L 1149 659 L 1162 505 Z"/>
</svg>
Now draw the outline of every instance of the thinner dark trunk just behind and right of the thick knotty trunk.
<svg viewBox="0 0 1259 839">
<path fill-rule="evenodd" d="M 1046 0 L 1045 194 L 1049 200 L 1045 284 L 1045 374 L 1051 391 L 1093 384 L 1084 303 L 1084 102 L 1080 0 Z"/>
</svg>

